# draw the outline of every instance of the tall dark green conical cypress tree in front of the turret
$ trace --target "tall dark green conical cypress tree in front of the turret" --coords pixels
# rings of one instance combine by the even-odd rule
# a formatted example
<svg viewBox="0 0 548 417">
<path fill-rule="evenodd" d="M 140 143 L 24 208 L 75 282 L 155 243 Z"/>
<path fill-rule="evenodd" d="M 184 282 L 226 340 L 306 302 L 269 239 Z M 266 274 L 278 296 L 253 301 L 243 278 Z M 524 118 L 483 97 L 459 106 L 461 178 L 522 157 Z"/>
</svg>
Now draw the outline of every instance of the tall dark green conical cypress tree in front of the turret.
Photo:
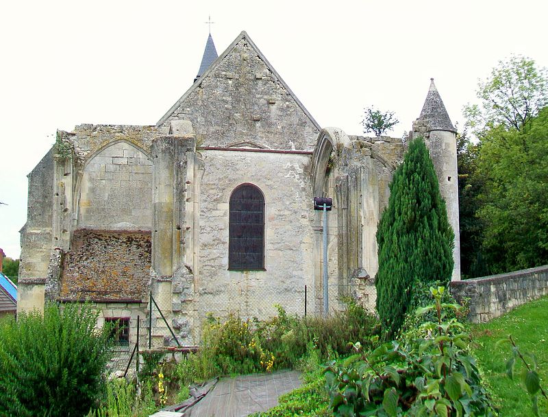
<svg viewBox="0 0 548 417">
<path fill-rule="evenodd" d="M 377 228 L 377 311 L 388 333 L 401 327 L 416 283 L 449 283 L 453 239 L 434 165 L 423 139 L 414 139 Z"/>
</svg>

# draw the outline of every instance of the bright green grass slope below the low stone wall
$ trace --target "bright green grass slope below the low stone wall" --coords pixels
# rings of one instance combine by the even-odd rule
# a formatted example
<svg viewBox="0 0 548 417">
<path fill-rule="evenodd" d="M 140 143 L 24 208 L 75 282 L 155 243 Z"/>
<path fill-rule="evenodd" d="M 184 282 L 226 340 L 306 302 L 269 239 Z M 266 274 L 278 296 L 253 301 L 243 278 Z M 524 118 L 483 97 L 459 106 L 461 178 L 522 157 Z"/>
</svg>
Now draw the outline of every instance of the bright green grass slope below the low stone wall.
<svg viewBox="0 0 548 417">
<path fill-rule="evenodd" d="M 521 380 L 506 375 L 506 361 L 512 357 L 509 344 L 495 346 L 512 335 L 522 353 L 534 353 L 538 361 L 540 385 L 548 388 L 548 298 L 517 307 L 489 323 L 471 325 L 473 348 L 486 383 L 493 393 L 501 417 L 532 416 L 530 397 Z M 523 369 L 523 364 L 519 364 Z M 540 416 L 548 416 L 548 403 L 539 401 Z"/>
</svg>

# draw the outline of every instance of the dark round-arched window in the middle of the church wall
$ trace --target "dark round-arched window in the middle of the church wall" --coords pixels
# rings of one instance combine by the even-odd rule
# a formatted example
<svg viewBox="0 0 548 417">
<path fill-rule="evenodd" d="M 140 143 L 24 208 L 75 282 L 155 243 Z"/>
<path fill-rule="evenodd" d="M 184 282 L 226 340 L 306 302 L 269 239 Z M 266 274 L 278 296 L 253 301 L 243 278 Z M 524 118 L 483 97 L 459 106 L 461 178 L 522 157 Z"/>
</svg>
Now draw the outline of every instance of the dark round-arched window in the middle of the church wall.
<svg viewBox="0 0 548 417">
<path fill-rule="evenodd" d="M 230 196 L 228 269 L 264 270 L 264 197 L 253 184 Z"/>
</svg>

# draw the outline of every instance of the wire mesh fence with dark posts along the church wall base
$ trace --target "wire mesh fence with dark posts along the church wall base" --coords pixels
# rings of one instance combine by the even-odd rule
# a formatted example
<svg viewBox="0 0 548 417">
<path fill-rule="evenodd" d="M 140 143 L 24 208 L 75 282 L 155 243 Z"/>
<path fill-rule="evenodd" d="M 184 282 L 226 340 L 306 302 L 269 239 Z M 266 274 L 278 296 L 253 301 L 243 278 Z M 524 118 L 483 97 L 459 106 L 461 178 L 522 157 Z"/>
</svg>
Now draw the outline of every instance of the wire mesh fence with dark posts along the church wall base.
<svg viewBox="0 0 548 417">
<path fill-rule="evenodd" d="M 374 285 L 332 284 L 327 294 L 327 315 L 346 309 L 349 300 L 355 300 L 366 310 L 375 309 Z M 242 320 L 266 320 L 277 315 L 278 309 L 300 317 L 325 315 L 323 289 L 308 285 L 230 284 L 199 291 L 195 298 L 186 302 L 174 300 L 171 293 L 149 296 L 148 301 L 139 315 L 132 313 L 123 323 L 125 335 L 119 337 L 119 343 L 112 348 L 110 370 L 136 372 L 138 361 L 142 361 L 140 354 L 147 349 L 192 350 L 199 345 L 206 320 L 223 322 L 230 315 Z"/>
</svg>

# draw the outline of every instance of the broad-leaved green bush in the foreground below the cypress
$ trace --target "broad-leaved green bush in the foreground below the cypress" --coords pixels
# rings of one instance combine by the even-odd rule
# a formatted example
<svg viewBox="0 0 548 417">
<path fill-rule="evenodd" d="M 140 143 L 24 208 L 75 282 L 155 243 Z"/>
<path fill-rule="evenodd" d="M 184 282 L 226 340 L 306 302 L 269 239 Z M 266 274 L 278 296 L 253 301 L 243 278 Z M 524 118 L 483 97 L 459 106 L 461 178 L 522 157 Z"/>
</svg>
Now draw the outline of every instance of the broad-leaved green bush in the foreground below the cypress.
<svg viewBox="0 0 548 417">
<path fill-rule="evenodd" d="M 458 305 L 441 301 L 443 287 L 432 288 L 436 322 L 421 325 L 422 337 L 403 346 L 382 344 L 370 355 L 353 346 L 356 355 L 325 372 L 330 407 L 336 416 L 493 416 L 475 359 L 468 353 L 468 335 L 447 313 Z"/>
</svg>

